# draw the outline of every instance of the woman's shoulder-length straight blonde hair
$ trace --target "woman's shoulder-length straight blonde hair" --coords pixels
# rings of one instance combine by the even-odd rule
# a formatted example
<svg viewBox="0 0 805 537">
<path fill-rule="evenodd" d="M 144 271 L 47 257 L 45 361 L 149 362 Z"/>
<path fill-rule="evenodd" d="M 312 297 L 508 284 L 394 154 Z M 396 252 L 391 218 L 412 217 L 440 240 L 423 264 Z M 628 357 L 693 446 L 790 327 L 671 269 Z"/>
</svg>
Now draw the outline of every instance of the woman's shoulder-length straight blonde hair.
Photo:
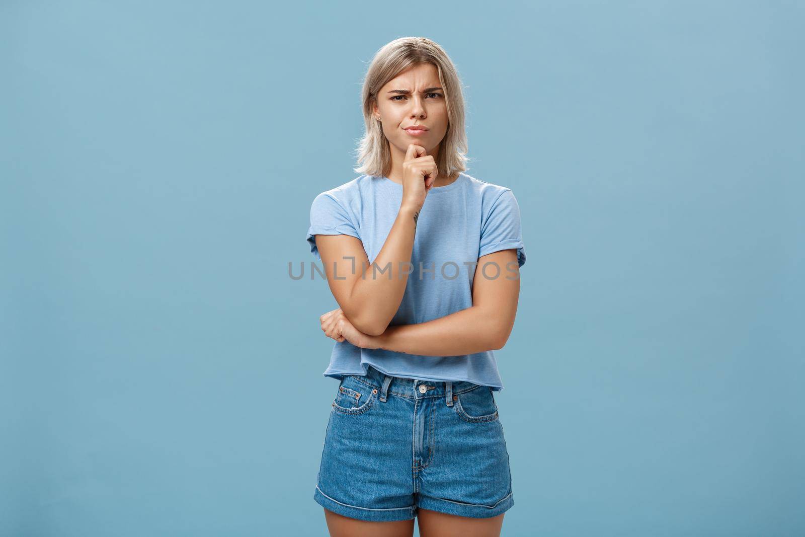
<svg viewBox="0 0 805 537">
<path fill-rule="evenodd" d="M 363 119 L 366 132 L 358 143 L 354 171 L 370 176 L 387 176 L 391 172 L 391 151 L 383 134 L 382 123 L 372 115 L 372 104 L 378 92 L 400 72 L 416 64 L 433 64 L 439 72 L 448 107 L 448 130 L 444 134 L 436 157 L 439 175 L 452 177 L 468 169 L 467 133 L 464 130 L 464 94 L 456 66 L 447 52 L 425 37 L 401 37 L 384 45 L 369 64 L 361 89 Z"/>
</svg>

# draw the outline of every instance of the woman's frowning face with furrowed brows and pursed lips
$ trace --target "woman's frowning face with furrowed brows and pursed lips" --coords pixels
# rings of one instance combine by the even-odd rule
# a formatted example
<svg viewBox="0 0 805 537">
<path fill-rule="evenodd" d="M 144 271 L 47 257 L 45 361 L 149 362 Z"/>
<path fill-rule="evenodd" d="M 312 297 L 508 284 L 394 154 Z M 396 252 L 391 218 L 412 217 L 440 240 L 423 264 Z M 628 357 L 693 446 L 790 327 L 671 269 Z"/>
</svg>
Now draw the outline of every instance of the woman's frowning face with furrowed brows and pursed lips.
<svg viewBox="0 0 805 537">
<path fill-rule="evenodd" d="M 439 72 L 434 64 L 418 64 L 391 79 L 378 92 L 374 118 L 380 118 L 383 134 L 390 145 L 403 154 L 408 145 L 422 146 L 428 155 L 436 154 L 448 131 L 448 106 Z M 423 125 L 422 134 L 411 134 L 408 126 Z"/>
</svg>

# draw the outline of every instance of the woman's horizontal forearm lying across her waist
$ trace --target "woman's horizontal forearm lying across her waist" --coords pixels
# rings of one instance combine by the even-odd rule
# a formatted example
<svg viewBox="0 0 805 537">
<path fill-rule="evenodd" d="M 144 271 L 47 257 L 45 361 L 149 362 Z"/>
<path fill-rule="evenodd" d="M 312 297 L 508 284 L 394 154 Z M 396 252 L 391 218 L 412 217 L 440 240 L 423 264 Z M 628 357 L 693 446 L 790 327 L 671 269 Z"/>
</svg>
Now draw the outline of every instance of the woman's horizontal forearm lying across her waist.
<svg viewBox="0 0 805 537">
<path fill-rule="evenodd" d="M 506 331 L 489 312 L 472 306 L 419 324 L 399 324 L 369 338 L 371 349 L 424 356 L 460 356 L 500 349 Z"/>
</svg>

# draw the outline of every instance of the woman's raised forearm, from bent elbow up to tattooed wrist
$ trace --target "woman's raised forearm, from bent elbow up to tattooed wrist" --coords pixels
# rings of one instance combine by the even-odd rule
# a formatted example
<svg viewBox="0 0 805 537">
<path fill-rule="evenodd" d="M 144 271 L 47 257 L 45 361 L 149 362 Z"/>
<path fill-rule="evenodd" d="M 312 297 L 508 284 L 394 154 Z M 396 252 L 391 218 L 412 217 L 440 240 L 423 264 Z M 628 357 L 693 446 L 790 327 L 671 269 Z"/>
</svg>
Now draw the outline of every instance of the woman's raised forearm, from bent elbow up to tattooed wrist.
<svg viewBox="0 0 805 537">
<path fill-rule="evenodd" d="M 360 277 L 349 297 L 352 315 L 348 318 L 365 333 L 383 333 L 403 301 L 411 272 L 417 217 L 419 209 L 402 205 L 374 262 L 355 267 Z"/>
</svg>

